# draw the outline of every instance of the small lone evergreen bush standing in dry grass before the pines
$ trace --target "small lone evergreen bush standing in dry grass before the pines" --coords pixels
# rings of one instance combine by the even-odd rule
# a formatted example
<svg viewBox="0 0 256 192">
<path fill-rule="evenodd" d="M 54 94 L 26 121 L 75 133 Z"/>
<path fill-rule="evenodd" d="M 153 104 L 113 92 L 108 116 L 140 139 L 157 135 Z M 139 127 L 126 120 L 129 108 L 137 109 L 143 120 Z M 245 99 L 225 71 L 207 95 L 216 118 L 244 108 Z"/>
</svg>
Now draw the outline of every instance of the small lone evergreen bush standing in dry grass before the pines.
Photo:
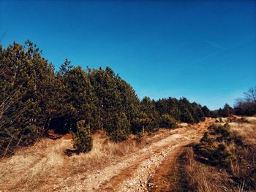
<svg viewBox="0 0 256 192">
<path fill-rule="evenodd" d="M 85 126 L 85 120 L 78 121 L 76 131 L 72 134 L 74 147 L 78 153 L 89 152 L 92 148 L 90 126 Z"/>
</svg>

